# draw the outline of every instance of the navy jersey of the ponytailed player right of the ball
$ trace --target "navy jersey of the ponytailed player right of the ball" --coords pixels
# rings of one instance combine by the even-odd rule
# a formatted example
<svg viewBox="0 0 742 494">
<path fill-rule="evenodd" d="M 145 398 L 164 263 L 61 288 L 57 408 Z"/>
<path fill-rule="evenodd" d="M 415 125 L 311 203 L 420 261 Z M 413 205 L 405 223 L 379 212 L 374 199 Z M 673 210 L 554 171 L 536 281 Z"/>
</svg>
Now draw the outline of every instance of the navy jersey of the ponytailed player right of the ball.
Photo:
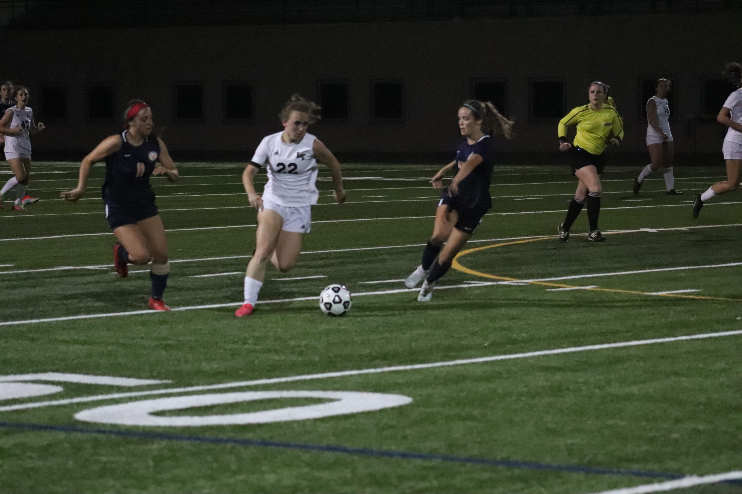
<svg viewBox="0 0 742 494">
<path fill-rule="evenodd" d="M 490 196 L 490 180 L 495 166 L 495 146 L 490 136 L 482 136 L 479 141 L 469 144 L 467 138 L 462 138 L 456 149 L 456 164 L 459 168 L 469 159 L 469 156 L 482 156 L 480 163 L 472 172 L 459 182 L 458 201 L 470 209 L 492 207 Z"/>
</svg>

